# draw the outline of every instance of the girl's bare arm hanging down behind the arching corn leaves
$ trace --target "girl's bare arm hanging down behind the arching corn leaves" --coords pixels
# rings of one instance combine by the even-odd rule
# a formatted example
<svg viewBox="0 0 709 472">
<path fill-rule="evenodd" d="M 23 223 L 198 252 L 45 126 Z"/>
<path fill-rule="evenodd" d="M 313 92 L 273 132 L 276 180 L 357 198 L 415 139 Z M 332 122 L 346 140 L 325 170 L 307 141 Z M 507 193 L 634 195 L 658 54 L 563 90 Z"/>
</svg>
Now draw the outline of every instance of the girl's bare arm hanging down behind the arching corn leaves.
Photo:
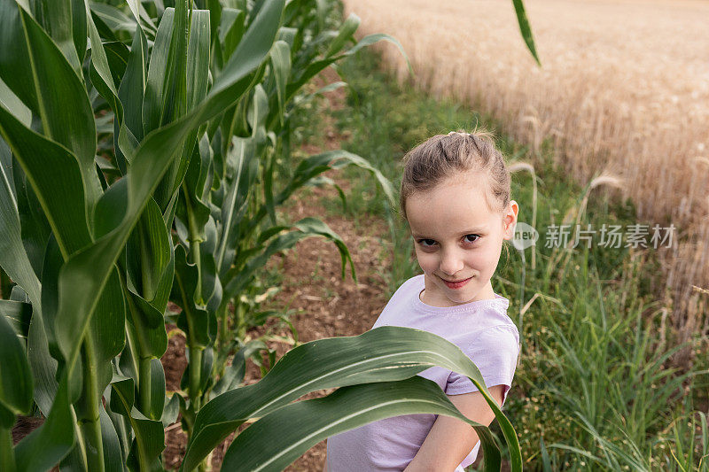
<svg viewBox="0 0 709 472">
<path fill-rule="evenodd" d="M 497 405 L 503 404 L 504 385 L 488 387 Z M 495 419 L 482 393 L 473 391 L 462 395 L 448 395 L 456 408 L 473 422 L 488 425 Z M 466 422 L 440 414 L 426 436 L 424 444 L 404 472 L 451 472 L 475 447 L 478 434 Z"/>
</svg>

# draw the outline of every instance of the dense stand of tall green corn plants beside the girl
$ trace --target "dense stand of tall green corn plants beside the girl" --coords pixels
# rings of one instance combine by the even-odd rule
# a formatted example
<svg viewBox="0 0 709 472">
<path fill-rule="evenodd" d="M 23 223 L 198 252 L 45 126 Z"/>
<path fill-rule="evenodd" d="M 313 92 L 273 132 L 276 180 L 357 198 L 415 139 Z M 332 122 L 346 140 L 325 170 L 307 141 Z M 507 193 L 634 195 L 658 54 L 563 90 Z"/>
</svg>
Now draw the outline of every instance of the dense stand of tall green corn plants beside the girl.
<svg viewBox="0 0 709 472">
<path fill-rule="evenodd" d="M 478 369 L 432 334 L 387 327 L 303 344 L 249 386 L 244 361 L 260 346 L 228 362 L 253 323 L 242 296 L 272 254 L 324 236 L 343 276 L 351 265 L 322 221 L 279 225 L 277 205 L 346 165 L 369 171 L 393 199 L 391 184 L 345 151 L 290 167 L 300 88 L 391 39 L 350 47 L 358 20 L 331 31 L 318 4 L 0 0 L 0 276 L 3 295 L 12 290 L 0 300 L 4 470 L 160 470 L 164 428 L 178 414 L 189 436 L 183 469 L 204 468 L 216 445 L 258 419 L 224 467 L 273 470 L 324 437 L 414 413 L 468 422 L 486 468 L 499 469 L 489 429 L 415 375 L 434 365 L 479 387 L 521 468 L 514 429 Z M 168 396 L 160 357 L 171 317 L 190 362 L 183 389 Z M 34 410 L 43 425 L 12 445 L 17 415 Z"/>
</svg>

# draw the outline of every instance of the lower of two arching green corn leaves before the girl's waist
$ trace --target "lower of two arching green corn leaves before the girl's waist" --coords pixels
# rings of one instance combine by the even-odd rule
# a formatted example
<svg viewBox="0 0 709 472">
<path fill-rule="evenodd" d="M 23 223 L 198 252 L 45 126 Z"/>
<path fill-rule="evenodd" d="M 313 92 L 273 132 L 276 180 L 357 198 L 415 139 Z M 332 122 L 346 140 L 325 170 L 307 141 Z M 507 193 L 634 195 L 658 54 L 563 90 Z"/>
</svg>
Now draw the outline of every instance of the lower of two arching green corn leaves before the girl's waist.
<svg viewBox="0 0 709 472">
<path fill-rule="evenodd" d="M 467 419 L 438 384 L 417 375 L 399 382 L 342 387 L 325 398 L 295 402 L 267 414 L 234 439 L 222 468 L 282 470 L 326 437 L 401 414 L 445 414 L 467 422 L 480 437 L 485 470 L 500 470 L 500 452 L 487 426 Z"/>
</svg>

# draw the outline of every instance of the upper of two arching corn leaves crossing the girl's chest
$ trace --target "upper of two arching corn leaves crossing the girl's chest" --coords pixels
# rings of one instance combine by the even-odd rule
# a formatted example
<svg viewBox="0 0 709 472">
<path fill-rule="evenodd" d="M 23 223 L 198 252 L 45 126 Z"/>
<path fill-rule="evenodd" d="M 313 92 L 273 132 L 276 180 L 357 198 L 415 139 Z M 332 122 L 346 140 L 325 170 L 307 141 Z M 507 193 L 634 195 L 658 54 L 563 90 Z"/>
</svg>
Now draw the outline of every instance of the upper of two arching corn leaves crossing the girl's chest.
<svg viewBox="0 0 709 472">
<path fill-rule="evenodd" d="M 260 382 L 214 398 L 197 414 L 182 470 L 197 467 L 214 446 L 249 418 L 265 416 L 309 391 L 403 380 L 432 366 L 467 375 L 479 388 L 510 446 L 512 468 L 521 470 L 514 429 L 490 397 L 472 361 L 441 337 L 393 326 L 371 329 L 357 337 L 331 337 L 301 344 L 287 352 Z"/>
</svg>

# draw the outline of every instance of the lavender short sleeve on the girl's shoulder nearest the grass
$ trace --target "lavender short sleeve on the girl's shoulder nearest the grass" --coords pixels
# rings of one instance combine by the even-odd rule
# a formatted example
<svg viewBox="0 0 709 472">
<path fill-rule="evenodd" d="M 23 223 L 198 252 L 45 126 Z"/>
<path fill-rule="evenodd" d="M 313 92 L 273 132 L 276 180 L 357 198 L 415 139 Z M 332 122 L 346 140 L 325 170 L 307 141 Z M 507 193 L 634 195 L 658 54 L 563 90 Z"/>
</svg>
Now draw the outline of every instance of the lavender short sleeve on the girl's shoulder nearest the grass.
<svg viewBox="0 0 709 472">
<path fill-rule="evenodd" d="M 503 403 L 512 386 L 517 367 L 519 335 L 514 325 L 499 325 L 475 333 L 470 341 L 461 345 L 461 350 L 479 368 L 486 387 L 505 385 Z M 446 383 L 448 395 L 460 395 L 478 391 L 478 387 L 466 376 L 451 372 Z"/>
</svg>

